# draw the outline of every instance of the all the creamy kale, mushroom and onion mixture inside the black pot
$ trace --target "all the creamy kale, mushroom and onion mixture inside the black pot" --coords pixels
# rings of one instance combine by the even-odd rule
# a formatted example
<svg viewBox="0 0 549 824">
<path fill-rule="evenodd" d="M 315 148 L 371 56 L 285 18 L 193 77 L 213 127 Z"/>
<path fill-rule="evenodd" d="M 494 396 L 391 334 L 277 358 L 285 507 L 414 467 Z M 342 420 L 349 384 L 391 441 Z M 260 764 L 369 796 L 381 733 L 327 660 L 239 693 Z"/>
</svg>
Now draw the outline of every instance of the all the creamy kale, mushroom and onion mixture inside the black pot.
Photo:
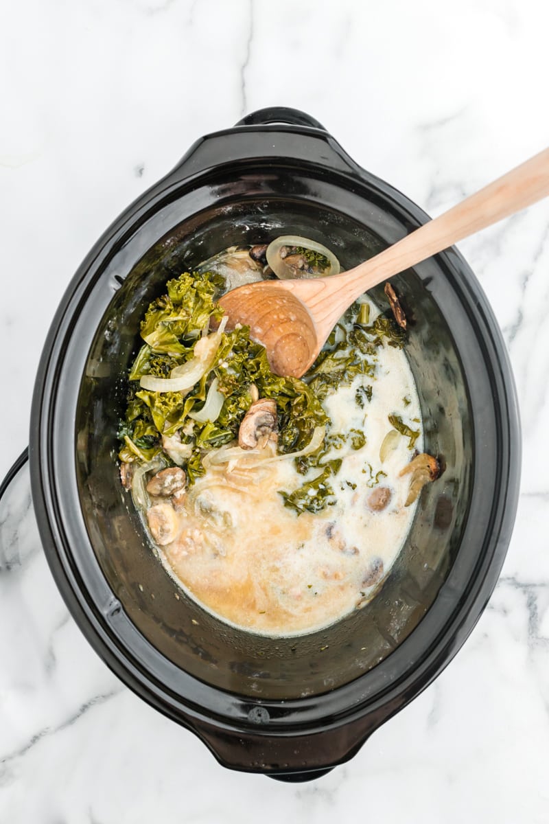
<svg viewBox="0 0 549 824">
<path fill-rule="evenodd" d="M 272 374 L 246 327 L 225 330 L 216 299 L 272 277 L 281 250 L 304 268 L 334 266 L 323 247 L 282 240 L 274 252 L 230 247 L 151 303 L 119 452 L 178 585 L 222 620 L 277 636 L 375 596 L 439 471 L 421 453 L 406 332 L 390 308 L 362 297 L 302 379 Z"/>
</svg>

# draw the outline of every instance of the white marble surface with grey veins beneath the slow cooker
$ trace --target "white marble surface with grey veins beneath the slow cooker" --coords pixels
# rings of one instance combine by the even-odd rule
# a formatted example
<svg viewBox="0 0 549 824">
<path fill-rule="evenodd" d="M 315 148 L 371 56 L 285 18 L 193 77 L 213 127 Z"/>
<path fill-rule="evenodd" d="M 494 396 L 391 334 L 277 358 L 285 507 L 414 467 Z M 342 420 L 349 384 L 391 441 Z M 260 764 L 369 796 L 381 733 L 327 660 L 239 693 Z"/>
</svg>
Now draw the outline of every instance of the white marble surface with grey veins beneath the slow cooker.
<svg viewBox="0 0 549 824">
<path fill-rule="evenodd" d="M 549 135 L 542 0 L 19 0 L 0 21 L 0 476 L 68 280 L 201 134 L 301 108 L 431 214 Z M 549 820 L 549 201 L 460 248 L 509 346 L 524 462 L 500 583 L 449 668 L 322 780 L 223 770 L 88 647 L 22 475 L 0 538 L 0 821 Z"/>
</svg>

